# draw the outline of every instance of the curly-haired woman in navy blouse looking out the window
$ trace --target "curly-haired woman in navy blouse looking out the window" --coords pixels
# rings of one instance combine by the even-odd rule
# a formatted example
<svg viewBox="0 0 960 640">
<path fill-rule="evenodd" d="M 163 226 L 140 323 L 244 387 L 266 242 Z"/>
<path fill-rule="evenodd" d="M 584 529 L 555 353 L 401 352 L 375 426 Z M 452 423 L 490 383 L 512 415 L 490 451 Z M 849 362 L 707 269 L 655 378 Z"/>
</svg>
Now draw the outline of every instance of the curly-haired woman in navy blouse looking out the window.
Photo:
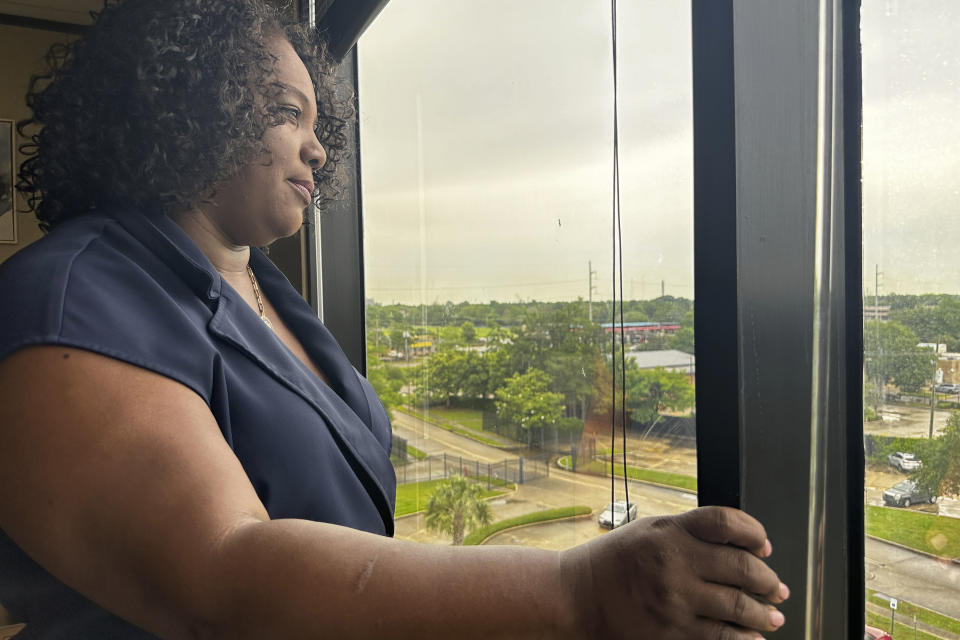
<svg viewBox="0 0 960 640">
<path fill-rule="evenodd" d="M 127 0 L 28 101 L 51 231 L 0 269 L 0 603 L 25 637 L 758 637 L 786 587 L 734 510 L 566 552 L 394 540 L 370 385 L 257 249 L 336 187 L 311 34 Z M 467 585 L 467 587 L 465 587 Z"/>
</svg>

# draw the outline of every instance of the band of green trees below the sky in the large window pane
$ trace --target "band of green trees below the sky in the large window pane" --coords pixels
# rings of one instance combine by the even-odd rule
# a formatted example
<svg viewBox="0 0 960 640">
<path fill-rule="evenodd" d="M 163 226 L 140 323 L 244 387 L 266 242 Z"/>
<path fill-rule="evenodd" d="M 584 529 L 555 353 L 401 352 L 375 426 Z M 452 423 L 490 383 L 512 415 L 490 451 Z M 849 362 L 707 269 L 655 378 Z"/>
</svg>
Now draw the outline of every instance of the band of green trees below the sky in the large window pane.
<svg viewBox="0 0 960 640">
<path fill-rule="evenodd" d="M 598 304 L 594 304 L 592 322 L 583 300 L 491 303 L 485 313 L 480 306 L 368 307 L 367 375 L 388 408 L 401 403 L 493 408 L 499 419 L 519 429 L 531 443 L 542 439 L 546 429 L 578 432 L 590 414 L 610 411 L 619 403 L 623 379 L 626 407 L 637 422 L 648 423 L 661 411 L 686 411 L 693 406 L 693 384 L 687 374 L 640 369 L 632 358 L 620 358 L 619 345 L 612 343 L 611 334 L 600 324 Z M 653 315 L 658 319 L 652 321 L 681 325 L 672 336 L 652 336 L 647 348 L 653 343 L 693 352 L 692 301 L 666 296 L 627 302 L 625 320 L 628 308 L 633 317 Z M 450 324 L 417 327 L 408 322 L 413 311 L 427 318 L 433 314 L 434 319 L 440 314 Z M 679 318 L 667 317 L 668 313 Z M 468 315 L 482 318 L 483 324 L 478 327 L 464 319 Z M 377 321 L 371 324 L 370 318 Z M 410 361 L 409 366 L 407 361 L 381 359 L 396 345 L 409 347 L 412 339 L 424 333 L 435 348 L 428 357 Z"/>
</svg>

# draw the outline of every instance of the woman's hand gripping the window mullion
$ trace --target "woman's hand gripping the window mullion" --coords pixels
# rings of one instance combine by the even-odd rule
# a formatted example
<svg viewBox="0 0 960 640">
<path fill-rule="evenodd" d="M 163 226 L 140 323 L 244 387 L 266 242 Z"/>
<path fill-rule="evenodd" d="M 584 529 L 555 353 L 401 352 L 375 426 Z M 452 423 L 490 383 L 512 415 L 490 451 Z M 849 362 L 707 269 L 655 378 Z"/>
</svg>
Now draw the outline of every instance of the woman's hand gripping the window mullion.
<svg viewBox="0 0 960 640">
<path fill-rule="evenodd" d="M 724 507 L 637 520 L 562 556 L 564 593 L 584 638 L 755 640 L 789 590 L 760 560 L 759 522 Z"/>
</svg>

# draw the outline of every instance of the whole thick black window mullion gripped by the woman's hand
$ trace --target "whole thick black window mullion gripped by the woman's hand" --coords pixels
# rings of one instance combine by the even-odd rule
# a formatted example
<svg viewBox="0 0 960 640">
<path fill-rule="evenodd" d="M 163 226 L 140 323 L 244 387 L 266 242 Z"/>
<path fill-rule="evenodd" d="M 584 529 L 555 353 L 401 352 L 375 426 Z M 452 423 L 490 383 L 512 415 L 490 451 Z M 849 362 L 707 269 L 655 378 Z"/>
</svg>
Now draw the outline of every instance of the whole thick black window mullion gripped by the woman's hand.
<svg viewBox="0 0 960 640">
<path fill-rule="evenodd" d="M 842 85 L 850 102 L 843 103 L 837 131 L 841 205 L 831 247 L 832 355 L 825 365 L 835 381 L 825 461 L 825 637 L 840 629 L 850 637 L 863 632 L 862 515 L 854 513 L 863 487 L 859 87 L 851 88 L 858 82 L 857 5 L 845 3 L 843 12 Z M 791 624 L 778 637 L 801 638 L 809 542 L 817 4 L 694 0 L 693 30 L 700 498 L 702 504 L 739 504 L 765 524 L 775 543 L 771 563 L 794 594 L 784 607 Z"/>
</svg>

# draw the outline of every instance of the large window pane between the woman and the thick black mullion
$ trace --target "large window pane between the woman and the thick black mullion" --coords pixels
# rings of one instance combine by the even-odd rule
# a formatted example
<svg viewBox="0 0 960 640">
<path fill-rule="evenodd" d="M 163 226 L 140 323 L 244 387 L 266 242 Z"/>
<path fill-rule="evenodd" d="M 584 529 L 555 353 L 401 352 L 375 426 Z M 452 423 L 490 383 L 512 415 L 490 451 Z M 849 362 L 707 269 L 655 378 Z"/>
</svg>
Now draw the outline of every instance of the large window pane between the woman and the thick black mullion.
<svg viewBox="0 0 960 640">
<path fill-rule="evenodd" d="M 609 6 L 391 0 L 360 42 L 368 372 L 398 437 L 398 537 L 460 541 L 459 475 L 493 523 L 583 513 L 489 543 L 572 546 L 605 531 L 624 452 L 635 507 L 607 519 L 696 505 L 689 6 L 619 20 L 622 333 Z"/>
</svg>

